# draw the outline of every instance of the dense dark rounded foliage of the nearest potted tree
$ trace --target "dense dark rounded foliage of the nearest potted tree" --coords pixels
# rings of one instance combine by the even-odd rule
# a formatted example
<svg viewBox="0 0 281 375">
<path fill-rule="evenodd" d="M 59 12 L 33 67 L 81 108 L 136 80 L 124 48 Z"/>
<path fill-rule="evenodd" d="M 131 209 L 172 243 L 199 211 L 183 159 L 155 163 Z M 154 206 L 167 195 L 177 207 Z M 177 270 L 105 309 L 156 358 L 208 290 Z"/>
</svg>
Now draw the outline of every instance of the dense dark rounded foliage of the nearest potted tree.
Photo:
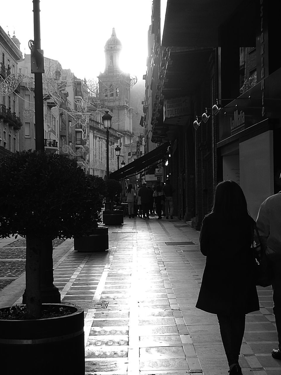
<svg viewBox="0 0 281 375">
<path fill-rule="evenodd" d="M 71 238 L 101 222 L 102 178 L 59 154 L 21 151 L 0 160 L 0 238 Z"/>
</svg>

